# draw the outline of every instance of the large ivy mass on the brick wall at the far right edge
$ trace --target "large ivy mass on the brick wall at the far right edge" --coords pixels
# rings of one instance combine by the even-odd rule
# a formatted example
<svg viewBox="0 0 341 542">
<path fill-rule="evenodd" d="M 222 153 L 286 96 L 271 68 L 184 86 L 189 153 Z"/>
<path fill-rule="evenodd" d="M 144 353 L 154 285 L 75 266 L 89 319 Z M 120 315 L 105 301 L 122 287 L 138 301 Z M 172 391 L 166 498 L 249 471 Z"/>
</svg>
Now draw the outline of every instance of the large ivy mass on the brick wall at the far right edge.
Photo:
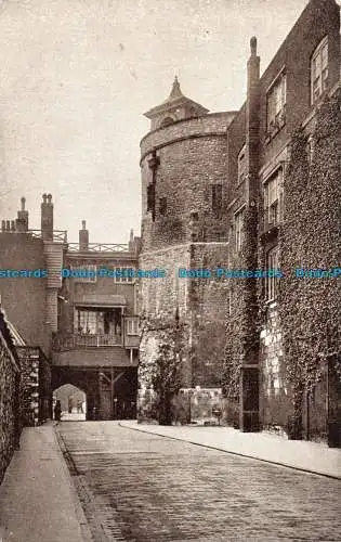
<svg viewBox="0 0 341 542">
<path fill-rule="evenodd" d="M 332 376 L 341 375 L 339 280 L 296 278 L 293 273 L 296 268 L 330 270 L 340 264 L 340 128 L 338 92 L 324 101 L 311 127 L 293 134 L 285 176 L 279 248 L 286 278 L 279 283 L 278 308 L 297 437 L 302 436 L 305 393 L 313 393 L 328 371 L 333 383 L 328 423 L 340 414 L 335 389 L 338 378 Z"/>
</svg>

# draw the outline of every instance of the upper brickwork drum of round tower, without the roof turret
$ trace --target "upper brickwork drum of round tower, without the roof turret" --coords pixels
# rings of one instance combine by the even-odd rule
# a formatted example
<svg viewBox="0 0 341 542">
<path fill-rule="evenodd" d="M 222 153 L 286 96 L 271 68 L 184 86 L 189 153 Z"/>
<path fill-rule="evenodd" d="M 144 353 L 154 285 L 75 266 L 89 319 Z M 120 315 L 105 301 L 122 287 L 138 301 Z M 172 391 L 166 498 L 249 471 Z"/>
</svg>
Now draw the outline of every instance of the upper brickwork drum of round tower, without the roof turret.
<svg viewBox="0 0 341 542">
<path fill-rule="evenodd" d="M 145 152 L 142 167 L 142 237 L 143 250 L 156 249 L 170 244 L 188 241 L 215 241 L 224 237 L 226 217 L 224 208 L 227 201 L 227 150 L 226 126 L 232 117 L 218 117 L 217 132 L 206 130 L 200 137 L 193 137 L 191 126 L 194 120 L 181 121 L 182 139 L 176 139 L 170 126 L 157 133 L 171 132 L 156 152 L 157 169 L 149 167 L 155 136 L 144 140 Z M 200 124 L 205 127 L 205 117 Z M 218 124 L 218 122 L 217 122 Z M 209 125 L 210 126 L 210 125 Z M 174 130 L 174 129 L 173 129 Z M 209 157 L 209 159 L 208 159 Z M 154 182 L 155 212 L 148 209 L 148 188 Z M 219 207 L 213 208 L 212 185 L 221 185 L 218 195 Z M 160 206 L 166 205 L 162 212 Z"/>
</svg>

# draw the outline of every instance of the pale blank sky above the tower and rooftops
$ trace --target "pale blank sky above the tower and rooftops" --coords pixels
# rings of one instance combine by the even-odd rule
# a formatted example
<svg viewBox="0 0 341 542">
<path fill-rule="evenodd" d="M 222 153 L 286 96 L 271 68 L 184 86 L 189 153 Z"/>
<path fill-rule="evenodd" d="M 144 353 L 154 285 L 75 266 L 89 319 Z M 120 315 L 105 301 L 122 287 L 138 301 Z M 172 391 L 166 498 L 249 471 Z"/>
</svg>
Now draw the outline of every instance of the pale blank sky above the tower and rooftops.
<svg viewBox="0 0 341 542">
<path fill-rule="evenodd" d="M 26 196 L 40 228 L 77 241 L 140 234 L 140 140 L 147 109 L 182 92 L 210 112 L 246 96 L 251 36 L 261 70 L 306 0 L 0 0 L 0 218 Z"/>
</svg>

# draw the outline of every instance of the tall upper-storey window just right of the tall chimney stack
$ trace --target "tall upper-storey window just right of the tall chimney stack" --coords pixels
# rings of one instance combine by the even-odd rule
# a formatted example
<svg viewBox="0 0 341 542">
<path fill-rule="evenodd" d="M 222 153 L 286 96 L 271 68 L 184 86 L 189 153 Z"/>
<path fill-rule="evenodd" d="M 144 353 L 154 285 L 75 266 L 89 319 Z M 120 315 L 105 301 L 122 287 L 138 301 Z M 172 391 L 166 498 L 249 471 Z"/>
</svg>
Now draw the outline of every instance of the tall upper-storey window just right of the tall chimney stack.
<svg viewBox="0 0 341 542">
<path fill-rule="evenodd" d="M 266 95 L 266 126 L 270 134 L 276 132 L 285 125 L 285 108 L 287 93 L 287 76 L 280 74 Z"/>
</svg>

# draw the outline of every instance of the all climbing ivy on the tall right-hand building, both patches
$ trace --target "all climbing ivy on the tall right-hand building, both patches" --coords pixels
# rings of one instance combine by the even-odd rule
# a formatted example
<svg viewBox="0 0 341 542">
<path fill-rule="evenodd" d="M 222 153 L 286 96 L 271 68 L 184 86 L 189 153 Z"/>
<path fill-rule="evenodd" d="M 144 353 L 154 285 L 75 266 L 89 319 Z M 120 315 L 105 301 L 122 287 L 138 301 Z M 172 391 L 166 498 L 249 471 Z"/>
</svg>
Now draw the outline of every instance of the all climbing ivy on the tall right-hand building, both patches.
<svg viewBox="0 0 341 542">
<path fill-rule="evenodd" d="M 302 435 L 303 398 L 328 370 L 341 378 L 338 335 L 340 286 L 336 278 L 296 278 L 296 268 L 339 266 L 341 183 L 338 140 L 340 92 L 325 99 L 316 113 L 310 141 L 307 129 L 293 133 L 285 175 L 284 221 L 278 230 L 280 269 L 278 313 L 286 375 L 292 397 L 289 434 Z M 311 146 L 312 145 L 312 146 Z M 311 152 L 313 151 L 313 152 Z M 259 211 L 245 215 L 245 241 L 232 267 L 265 269 L 264 246 L 258 242 Z M 255 284 L 255 282 L 258 284 Z M 263 281 L 234 279 L 229 283 L 231 314 L 226 322 L 223 391 L 239 399 L 239 375 L 245 360 L 257 359 L 261 324 L 265 322 Z"/>
</svg>

